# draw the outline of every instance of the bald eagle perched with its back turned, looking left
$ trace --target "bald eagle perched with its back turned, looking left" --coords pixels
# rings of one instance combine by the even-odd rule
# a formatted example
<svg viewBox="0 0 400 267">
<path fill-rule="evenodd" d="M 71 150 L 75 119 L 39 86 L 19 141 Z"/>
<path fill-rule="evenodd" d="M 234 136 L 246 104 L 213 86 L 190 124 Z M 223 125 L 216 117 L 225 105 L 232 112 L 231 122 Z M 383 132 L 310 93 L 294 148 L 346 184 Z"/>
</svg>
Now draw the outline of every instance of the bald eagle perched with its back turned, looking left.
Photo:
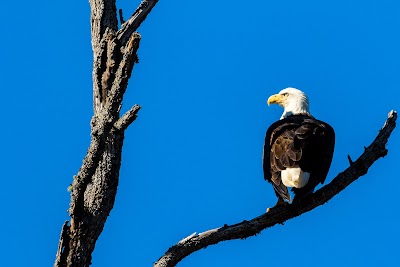
<svg viewBox="0 0 400 267">
<path fill-rule="evenodd" d="M 280 120 L 265 136 L 264 179 L 278 197 L 277 206 L 312 193 L 328 174 L 335 146 L 333 128 L 311 116 L 307 96 L 295 88 L 286 88 L 268 98 L 268 105 L 284 108 Z"/>
</svg>

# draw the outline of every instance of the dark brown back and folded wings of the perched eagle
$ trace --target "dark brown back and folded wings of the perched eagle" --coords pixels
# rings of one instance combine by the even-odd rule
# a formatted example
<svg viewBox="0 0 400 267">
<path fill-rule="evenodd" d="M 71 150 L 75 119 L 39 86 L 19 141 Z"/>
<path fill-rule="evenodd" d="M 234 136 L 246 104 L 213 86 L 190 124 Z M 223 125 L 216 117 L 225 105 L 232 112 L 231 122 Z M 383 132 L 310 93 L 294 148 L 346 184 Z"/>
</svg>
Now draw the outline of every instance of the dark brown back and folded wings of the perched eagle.
<svg viewBox="0 0 400 267">
<path fill-rule="evenodd" d="M 287 201 L 290 194 L 282 183 L 281 171 L 300 167 L 309 172 L 310 179 L 296 195 L 312 192 L 325 181 L 333 156 L 335 134 L 328 124 L 310 116 L 294 115 L 275 122 L 265 137 L 263 169 L 264 179 L 273 185 L 275 193 Z"/>
</svg>

